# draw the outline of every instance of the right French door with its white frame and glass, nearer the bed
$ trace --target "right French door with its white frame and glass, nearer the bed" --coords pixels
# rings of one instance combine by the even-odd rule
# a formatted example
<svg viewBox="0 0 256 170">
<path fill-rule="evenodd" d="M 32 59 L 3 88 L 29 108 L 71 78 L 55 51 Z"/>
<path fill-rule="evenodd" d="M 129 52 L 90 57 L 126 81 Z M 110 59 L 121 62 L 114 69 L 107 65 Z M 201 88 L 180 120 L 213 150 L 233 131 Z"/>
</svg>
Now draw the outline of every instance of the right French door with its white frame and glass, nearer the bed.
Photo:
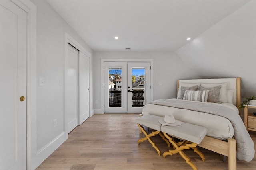
<svg viewBox="0 0 256 170">
<path fill-rule="evenodd" d="M 141 113 L 150 102 L 150 62 L 128 62 L 128 113 Z"/>
</svg>

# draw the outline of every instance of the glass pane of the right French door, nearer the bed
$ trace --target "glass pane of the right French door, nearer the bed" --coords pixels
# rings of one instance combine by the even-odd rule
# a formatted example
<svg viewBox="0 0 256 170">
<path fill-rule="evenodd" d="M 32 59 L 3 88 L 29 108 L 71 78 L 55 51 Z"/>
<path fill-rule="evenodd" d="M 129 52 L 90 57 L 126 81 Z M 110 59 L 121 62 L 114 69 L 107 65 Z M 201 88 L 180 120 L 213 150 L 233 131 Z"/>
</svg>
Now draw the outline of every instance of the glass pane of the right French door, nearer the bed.
<svg viewBox="0 0 256 170">
<path fill-rule="evenodd" d="M 132 107 L 144 106 L 145 68 L 132 67 Z"/>
</svg>

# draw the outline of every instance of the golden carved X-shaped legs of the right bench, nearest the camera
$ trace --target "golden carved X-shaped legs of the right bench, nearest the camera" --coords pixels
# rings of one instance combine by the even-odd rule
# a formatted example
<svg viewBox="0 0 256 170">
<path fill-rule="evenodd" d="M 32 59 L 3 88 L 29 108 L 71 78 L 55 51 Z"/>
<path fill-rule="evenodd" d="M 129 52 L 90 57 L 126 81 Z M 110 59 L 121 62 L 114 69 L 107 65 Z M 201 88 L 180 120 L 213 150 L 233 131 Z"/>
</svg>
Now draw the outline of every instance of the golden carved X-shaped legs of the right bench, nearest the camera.
<svg viewBox="0 0 256 170">
<path fill-rule="evenodd" d="M 169 139 L 169 142 L 172 143 L 172 145 L 174 146 L 174 150 L 169 150 L 168 152 L 164 152 L 163 153 L 163 156 L 164 158 L 167 156 L 167 155 L 172 155 L 172 154 L 176 154 L 176 153 L 179 153 L 180 156 L 182 158 L 184 158 L 184 160 L 186 160 L 186 163 L 189 164 L 191 166 L 191 168 L 193 170 L 197 170 L 197 167 L 196 165 L 193 163 L 193 162 L 190 162 L 190 158 L 184 154 L 184 152 L 182 150 L 184 149 L 190 149 L 190 148 L 195 148 L 197 146 L 196 143 L 187 143 L 188 141 L 184 141 L 184 142 L 181 142 L 181 143 L 176 143 L 174 140 L 172 140 L 172 137 L 169 137 L 169 135 L 167 135 L 166 133 L 164 133 L 164 136 Z M 197 150 L 197 149 L 196 149 Z M 194 149 L 195 151 L 195 149 Z M 197 150 L 198 151 L 198 150 Z M 196 153 L 197 153 L 196 151 Z M 202 154 L 202 152 L 200 152 L 200 154 Z M 199 156 L 201 157 L 201 155 L 199 154 Z M 204 155 L 202 154 L 202 156 L 204 157 Z M 202 157 L 201 157 L 202 158 Z"/>
</svg>

